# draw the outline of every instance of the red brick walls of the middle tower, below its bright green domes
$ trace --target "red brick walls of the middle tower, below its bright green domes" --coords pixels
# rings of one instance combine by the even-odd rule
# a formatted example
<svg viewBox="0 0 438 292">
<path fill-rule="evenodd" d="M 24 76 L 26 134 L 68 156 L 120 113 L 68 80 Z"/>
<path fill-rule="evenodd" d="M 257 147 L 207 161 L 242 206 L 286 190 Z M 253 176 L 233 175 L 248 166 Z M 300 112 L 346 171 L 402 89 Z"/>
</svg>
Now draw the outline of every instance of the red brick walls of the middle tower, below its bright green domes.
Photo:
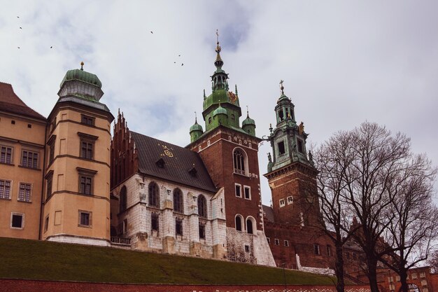
<svg viewBox="0 0 438 292">
<path fill-rule="evenodd" d="M 232 141 L 229 141 L 230 136 Z M 238 138 L 234 140 L 234 137 Z M 208 146 L 208 141 L 210 141 L 210 146 Z M 241 142 L 240 145 L 239 141 Z M 253 216 L 256 221 L 253 229 L 262 230 L 260 225 L 260 174 L 257 143 L 258 141 L 254 137 L 220 127 L 207 137 L 203 137 L 190 145 L 190 149 L 197 151 L 201 156 L 213 183 L 218 188 L 225 188 L 225 209 L 228 227 L 235 228 L 234 217 L 236 214 L 241 214 L 244 219 Z M 249 144 L 251 144 L 250 148 Z M 199 146 L 202 147 L 202 151 L 199 151 Z M 247 155 L 248 169 L 246 171 L 250 174 L 249 176 L 234 174 L 233 151 L 236 147 L 241 148 Z M 234 183 L 241 185 L 241 197 L 236 197 Z M 251 200 L 244 198 L 244 186 L 250 187 Z M 244 225 L 245 223 L 242 222 L 242 226 Z"/>
</svg>

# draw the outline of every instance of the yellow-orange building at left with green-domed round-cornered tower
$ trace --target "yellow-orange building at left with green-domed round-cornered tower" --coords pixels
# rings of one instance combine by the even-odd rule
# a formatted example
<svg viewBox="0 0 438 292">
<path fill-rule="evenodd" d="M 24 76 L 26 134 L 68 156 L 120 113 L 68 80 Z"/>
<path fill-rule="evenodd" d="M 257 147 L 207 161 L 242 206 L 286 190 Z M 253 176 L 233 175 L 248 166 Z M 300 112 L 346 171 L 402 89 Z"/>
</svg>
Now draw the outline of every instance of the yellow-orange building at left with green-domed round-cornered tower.
<svg viewBox="0 0 438 292">
<path fill-rule="evenodd" d="M 94 74 L 67 71 L 46 120 L 0 83 L 1 237 L 110 244 L 113 116 L 103 94 Z"/>
</svg>

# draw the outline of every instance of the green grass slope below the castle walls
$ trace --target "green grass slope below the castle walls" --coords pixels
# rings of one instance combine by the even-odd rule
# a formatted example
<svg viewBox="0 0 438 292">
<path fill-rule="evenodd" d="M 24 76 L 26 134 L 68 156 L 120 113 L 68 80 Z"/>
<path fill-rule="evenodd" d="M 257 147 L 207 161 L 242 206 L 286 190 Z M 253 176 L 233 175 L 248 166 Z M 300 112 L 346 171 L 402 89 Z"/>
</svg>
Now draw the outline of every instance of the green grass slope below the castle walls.
<svg viewBox="0 0 438 292">
<path fill-rule="evenodd" d="M 108 247 L 0 237 L 0 278 L 139 284 L 283 284 L 283 270 Z M 333 285 L 285 270 L 288 284 Z"/>
</svg>

